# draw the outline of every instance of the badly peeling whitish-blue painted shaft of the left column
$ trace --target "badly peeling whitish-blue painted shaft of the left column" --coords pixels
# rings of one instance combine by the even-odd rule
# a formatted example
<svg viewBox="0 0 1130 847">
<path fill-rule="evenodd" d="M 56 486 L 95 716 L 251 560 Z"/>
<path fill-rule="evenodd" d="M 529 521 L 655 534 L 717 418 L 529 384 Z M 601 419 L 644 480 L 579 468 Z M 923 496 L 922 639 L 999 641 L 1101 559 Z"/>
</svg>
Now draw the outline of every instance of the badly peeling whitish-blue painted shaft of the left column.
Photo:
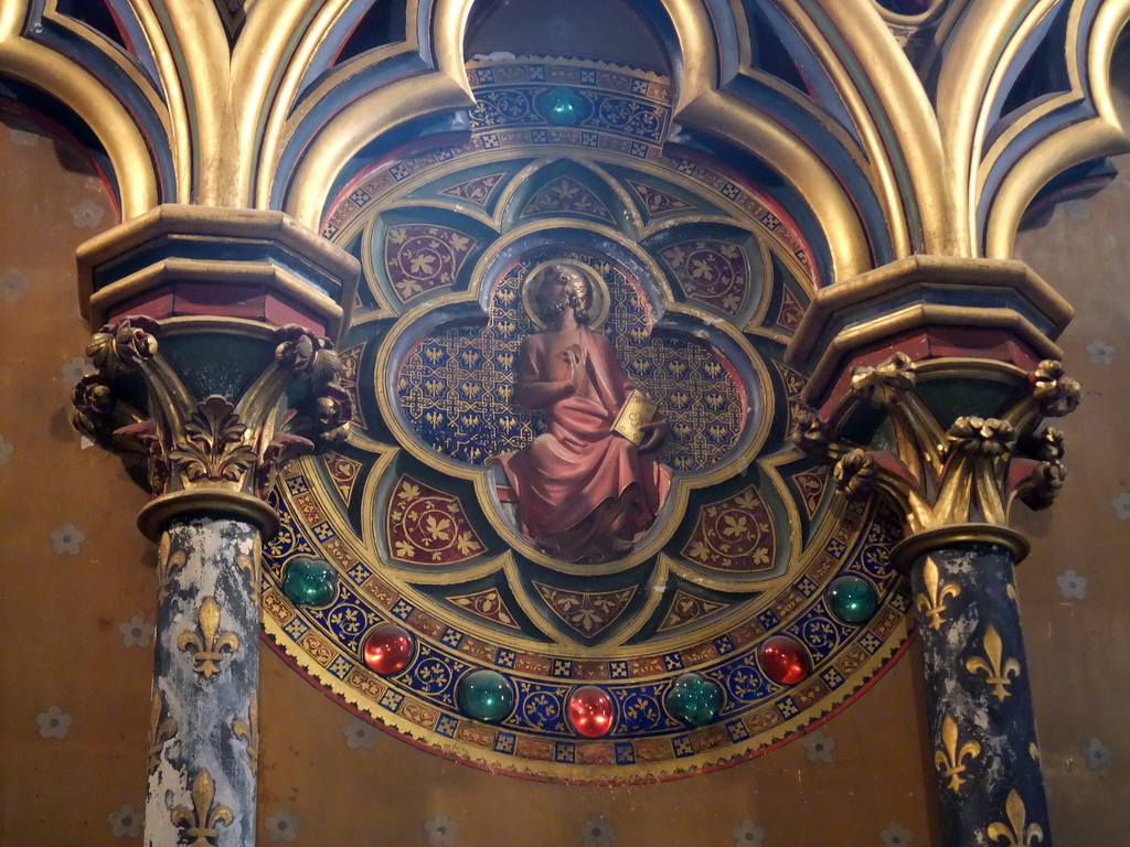
<svg viewBox="0 0 1130 847">
<path fill-rule="evenodd" d="M 205 836 L 207 844 L 254 844 L 254 761 L 233 725 L 252 714 L 258 698 L 258 535 L 249 523 L 200 517 L 174 521 L 162 539 L 166 559 L 182 553 L 184 560 L 169 569 L 167 593 L 158 600 L 154 656 L 162 717 L 175 719 L 177 731 L 149 775 L 148 847 L 184 840 L 184 810 L 195 826 L 215 831 Z M 219 612 L 215 632 L 201 630 L 200 610 L 208 597 Z M 197 654 L 212 650 L 225 637 L 226 648 L 216 652 L 221 656 L 215 661 L 217 670 L 201 672 Z M 193 796 L 192 787 L 203 771 L 214 794 L 201 806 L 203 792 L 198 788 Z"/>
</svg>

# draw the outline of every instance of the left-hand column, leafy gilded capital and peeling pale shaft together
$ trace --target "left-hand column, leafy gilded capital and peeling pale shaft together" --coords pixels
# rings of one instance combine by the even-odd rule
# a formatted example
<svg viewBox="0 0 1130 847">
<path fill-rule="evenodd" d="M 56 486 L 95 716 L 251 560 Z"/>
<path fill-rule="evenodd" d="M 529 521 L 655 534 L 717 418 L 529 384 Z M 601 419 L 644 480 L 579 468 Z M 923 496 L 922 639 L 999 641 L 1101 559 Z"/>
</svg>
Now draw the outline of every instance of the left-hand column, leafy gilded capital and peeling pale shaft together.
<svg viewBox="0 0 1130 847">
<path fill-rule="evenodd" d="M 358 267 L 279 212 L 160 207 L 84 245 L 79 273 L 101 329 L 73 422 L 154 494 L 146 844 L 253 845 L 264 498 L 347 434 L 330 338 Z"/>
</svg>

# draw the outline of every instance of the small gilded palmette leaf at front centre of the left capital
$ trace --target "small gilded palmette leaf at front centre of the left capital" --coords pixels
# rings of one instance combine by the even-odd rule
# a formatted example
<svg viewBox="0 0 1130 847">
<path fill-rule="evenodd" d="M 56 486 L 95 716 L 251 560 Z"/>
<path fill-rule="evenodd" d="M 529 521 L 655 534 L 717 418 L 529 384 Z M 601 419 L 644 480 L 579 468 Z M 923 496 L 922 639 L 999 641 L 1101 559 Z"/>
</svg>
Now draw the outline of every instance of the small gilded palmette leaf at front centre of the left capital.
<svg viewBox="0 0 1130 847">
<path fill-rule="evenodd" d="M 184 425 L 184 438 L 168 457 L 190 482 L 238 482 L 259 461 L 251 445 L 244 443 L 246 433 L 235 407 L 212 394 L 197 404 Z"/>
</svg>

